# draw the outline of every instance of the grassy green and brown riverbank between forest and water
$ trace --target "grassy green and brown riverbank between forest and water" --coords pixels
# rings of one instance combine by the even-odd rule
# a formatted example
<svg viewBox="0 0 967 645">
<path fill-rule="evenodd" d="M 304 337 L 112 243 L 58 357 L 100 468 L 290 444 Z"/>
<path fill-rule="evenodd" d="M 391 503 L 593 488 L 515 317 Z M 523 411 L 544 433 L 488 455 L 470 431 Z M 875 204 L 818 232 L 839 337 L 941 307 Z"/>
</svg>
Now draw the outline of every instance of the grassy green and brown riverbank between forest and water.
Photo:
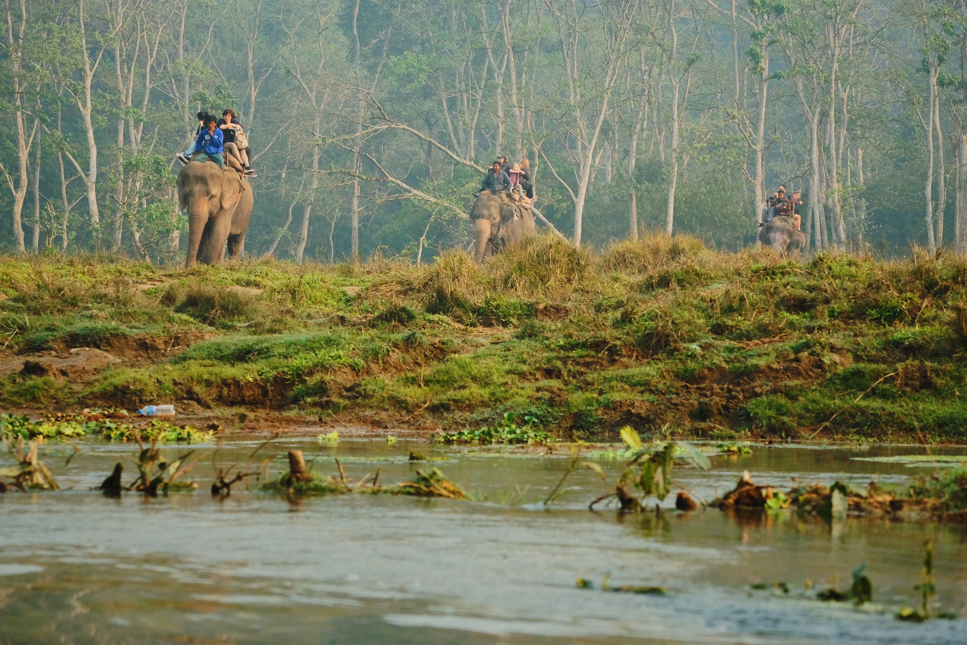
<svg viewBox="0 0 967 645">
<path fill-rule="evenodd" d="M 188 271 L 0 257 L 0 294 L 2 409 L 967 440 L 967 262 L 953 257 L 800 265 L 687 236 L 601 253 L 539 238 L 483 266 L 460 252 Z"/>
</svg>

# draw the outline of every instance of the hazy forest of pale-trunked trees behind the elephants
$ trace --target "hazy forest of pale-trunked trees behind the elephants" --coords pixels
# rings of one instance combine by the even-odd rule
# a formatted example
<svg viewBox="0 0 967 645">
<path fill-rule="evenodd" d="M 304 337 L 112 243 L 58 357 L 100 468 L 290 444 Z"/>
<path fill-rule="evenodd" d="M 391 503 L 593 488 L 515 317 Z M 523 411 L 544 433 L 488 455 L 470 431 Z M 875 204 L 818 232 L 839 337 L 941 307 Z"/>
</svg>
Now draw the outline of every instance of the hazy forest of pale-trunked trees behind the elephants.
<svg viewBox="0 0 967 645">
<path fill-rule="evenodd" d="M 5 0 L 0 249 L 183 261 L 195 113 L 249 133 L 249 257 L 466 248 L 498 154 L 539 228 L 967 251 L 967 0 Z M 181 255 L 179 255 L 181 249 Z"/>
</svg>

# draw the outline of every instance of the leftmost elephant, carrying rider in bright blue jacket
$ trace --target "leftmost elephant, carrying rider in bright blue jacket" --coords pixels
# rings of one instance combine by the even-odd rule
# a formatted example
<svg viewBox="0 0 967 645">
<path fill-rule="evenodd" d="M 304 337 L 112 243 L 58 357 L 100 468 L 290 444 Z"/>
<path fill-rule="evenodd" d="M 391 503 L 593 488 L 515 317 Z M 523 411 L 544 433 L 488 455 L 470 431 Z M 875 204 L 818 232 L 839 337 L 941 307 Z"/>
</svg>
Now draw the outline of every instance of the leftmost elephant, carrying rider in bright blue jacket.
<svg viewBox="0 0 967 645">
<path fill-rule="evenodd" d="M 229 256 L 237 258 L 253 205 L 249 180 L 238 172 L 212 161 L 190 161 L 178 175 L 178 206 L 188 209 L 189 219 L 185 266 L 219 264 L 226 242 Z"/>
</svg>

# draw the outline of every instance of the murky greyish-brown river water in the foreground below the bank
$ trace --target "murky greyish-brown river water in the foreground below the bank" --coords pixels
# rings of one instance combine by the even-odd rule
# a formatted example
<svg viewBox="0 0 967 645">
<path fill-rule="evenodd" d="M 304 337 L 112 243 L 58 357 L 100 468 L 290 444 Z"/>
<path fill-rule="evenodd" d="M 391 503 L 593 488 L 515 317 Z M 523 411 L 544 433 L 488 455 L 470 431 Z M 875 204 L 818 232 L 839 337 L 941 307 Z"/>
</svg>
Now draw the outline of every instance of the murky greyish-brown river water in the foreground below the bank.
<svg viewBox="0 0 967 645">
<path fill-rule="evenodd" d="M 231 444 L 220 462 L 244 464 L 255 445 Z M 793 513 L 715 510 L 590 513 L 588 502 L 619 472 L 621 464 L 608 461 L 601 462 L 608 483 L 577 470 L 568 493 L 543 510 L 535 502 L 557 484 L 567 459 L 402 441 L 278 441 L 271 454 L 301 448 L 318 455 L 314 468 L 326 473 L 336 472 L 338 455 L 348 476 L 379 467 L 389 483 L 437 466 L 488 501 L 288 501 L 241 485 L 213 499 L 209 460 L 187 478 L 200 484 L 193 493 L 111 499 L 90 488 L 134 449 L 82 447 L 66 469 L 73 448 L 46 449 L 46 463 L 71 489 L 0 496 L 0 643 L 967 642 L 967 531 L 959 526 L 830 525 Z M 447 460 L 410 464 L 411 449 Z M 711 471 L 680 470 L 678 480 L 706 500 L 745 469 L 761 484 L 898 481 L 929 470 L 851 457 L 917 452 L 758 447 L 714 457 Z M 669 497 L 662 506 L 672 504 Z M 936 544 L 940 606 L 961 619 L 901 623 L 892 616 L 916 602 L 926 539 Z M 873 604 L 815 600 L 817 589 L 848 588 L 861 565 Z M 608 573 L 612 586 L 661 586 L 666 595 L 602 592 Z M 578 589 L 578 576 L 596 588 Z M 750 588 L 778 582 L 788 594 Z"/>
</svg>

